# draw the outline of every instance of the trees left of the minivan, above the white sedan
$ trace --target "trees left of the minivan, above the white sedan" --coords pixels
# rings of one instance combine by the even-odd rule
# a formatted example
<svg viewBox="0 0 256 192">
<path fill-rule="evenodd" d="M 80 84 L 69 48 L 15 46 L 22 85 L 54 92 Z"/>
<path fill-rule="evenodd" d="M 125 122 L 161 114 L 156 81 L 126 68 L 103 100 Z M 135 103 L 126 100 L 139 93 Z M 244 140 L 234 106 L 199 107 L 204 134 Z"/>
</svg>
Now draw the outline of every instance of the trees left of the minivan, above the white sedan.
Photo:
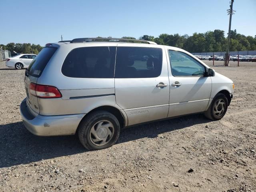
<svg viewBox="0 0 256 192">
<path fill-rule="evenodd" d="M 42 50 L 42 46 L 30 43 L 8 43 L 7 45 L 0 44 L 2 49 L 9 50 L 10 52 L 38 54 Z"/>
</svg>

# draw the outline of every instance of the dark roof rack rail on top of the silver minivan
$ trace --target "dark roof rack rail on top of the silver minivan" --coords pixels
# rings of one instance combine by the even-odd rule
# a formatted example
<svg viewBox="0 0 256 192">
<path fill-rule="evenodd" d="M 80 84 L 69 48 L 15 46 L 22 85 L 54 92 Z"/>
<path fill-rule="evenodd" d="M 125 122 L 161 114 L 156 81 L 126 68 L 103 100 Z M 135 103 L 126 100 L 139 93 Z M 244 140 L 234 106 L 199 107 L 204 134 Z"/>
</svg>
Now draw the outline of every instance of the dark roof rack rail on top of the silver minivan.
<svg viewBox="0 0 256 192">
<path fill-rule="evenodd" d="M 108 40 L 108 42 L 143 42 L 143 43 L 148 43 L 148 44 L 155 44 L 157 45 L 155 42 L 152 41 L 146 41 L 146 40 L 137 40 L 137 39 L 122 39 L 122 38 L 101 38 L 101 37 L 97 37 L 97 38 L 76 38 L 73 39 L 72 41 L 70 41 L 70 43 L 82 43 L 82 42 L 94 42 L 94 41 L 106 41 Z M 62 41 L 63 42 L 63 41 Z"/>
</svg>

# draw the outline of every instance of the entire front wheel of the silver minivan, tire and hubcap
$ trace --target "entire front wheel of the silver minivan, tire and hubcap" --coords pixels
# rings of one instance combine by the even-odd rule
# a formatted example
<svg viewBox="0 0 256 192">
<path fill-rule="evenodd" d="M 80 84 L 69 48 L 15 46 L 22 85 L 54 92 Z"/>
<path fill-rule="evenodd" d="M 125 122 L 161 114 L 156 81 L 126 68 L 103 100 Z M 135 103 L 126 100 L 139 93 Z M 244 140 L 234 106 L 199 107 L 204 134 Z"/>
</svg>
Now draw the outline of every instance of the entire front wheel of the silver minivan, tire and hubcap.
<svg viewBox="0 0 256 192">
<path fill-rule="evenodd" d="M 220 120 L 228 109 L 228 98 L 222 93 L 218 93 L 204 115 L 211 120 Z"/>
</svg>

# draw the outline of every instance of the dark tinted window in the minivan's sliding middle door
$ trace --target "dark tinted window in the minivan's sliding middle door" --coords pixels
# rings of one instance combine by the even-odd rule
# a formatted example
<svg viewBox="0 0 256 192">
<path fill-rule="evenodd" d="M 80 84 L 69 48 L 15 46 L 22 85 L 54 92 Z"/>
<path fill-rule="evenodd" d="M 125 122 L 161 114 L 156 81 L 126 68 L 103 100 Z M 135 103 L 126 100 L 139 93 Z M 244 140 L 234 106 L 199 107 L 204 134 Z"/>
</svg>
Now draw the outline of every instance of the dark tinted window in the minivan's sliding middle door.
<svg viewBox="0 0 256 192">
<path fill-rule="evenodd" d="M 162 70 L 162 49 L 118 47 L 115 78 L 158 77 Z"/>
</svg>

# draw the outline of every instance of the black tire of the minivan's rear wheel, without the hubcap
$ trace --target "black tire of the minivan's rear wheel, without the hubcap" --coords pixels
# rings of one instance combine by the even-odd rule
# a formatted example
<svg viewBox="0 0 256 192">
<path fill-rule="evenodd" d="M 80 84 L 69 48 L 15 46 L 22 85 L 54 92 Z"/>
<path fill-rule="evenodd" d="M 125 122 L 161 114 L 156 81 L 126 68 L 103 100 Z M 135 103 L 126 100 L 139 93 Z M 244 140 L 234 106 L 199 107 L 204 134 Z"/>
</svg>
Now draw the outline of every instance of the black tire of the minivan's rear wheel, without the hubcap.
<svg viewBox="0 0 256 192">
<path fill-rule="evenodd" d="M 108 143 L 104 145 L 96 145 L 93 141 L 93 135 L 91 135 L 91 130 L 94 129 L 93 126 L 97 124 L 97 122 L 104 120 L 111 122 L 113 125 L 113 131 L 111 136 L 112 138 L 110 138 L 110 140 L 108 140 Z M 100 150 L 111 147 L 116 143 L 119 134 L 120 124 L 118 122 L 118 119 L 112 113 L 103 110 L 98 110 L 86 115 L 78 126 L 79 140 L 82 143 L 82 145 L 88 150 Z"/>
</svg>

